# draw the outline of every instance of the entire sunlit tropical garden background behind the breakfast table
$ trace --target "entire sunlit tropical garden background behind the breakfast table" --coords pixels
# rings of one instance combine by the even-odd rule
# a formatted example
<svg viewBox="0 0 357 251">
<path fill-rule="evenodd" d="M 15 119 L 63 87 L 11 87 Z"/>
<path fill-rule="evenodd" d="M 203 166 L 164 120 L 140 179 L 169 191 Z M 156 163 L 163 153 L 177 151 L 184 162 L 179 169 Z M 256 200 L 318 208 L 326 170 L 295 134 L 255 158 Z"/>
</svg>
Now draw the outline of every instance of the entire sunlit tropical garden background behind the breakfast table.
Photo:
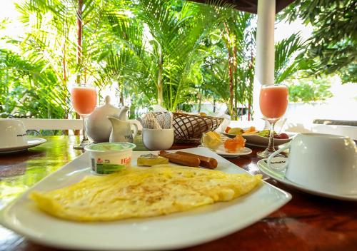
<svg viewBox="0 0 357 251">
<path fill-rule="evenodd" d="M 256 15 L 212 3 L 2 1 L 1 117 L 75 118 L 69 86 L 80 82 L 97 86 L 99 103 L 110 95 L 129 106 L 130 118 L 154 104 L 256 118 Z M 297 0 L 276 17 L 286 117 L 356 120 L 356 9 L 352 0 Z"/>
</svg>

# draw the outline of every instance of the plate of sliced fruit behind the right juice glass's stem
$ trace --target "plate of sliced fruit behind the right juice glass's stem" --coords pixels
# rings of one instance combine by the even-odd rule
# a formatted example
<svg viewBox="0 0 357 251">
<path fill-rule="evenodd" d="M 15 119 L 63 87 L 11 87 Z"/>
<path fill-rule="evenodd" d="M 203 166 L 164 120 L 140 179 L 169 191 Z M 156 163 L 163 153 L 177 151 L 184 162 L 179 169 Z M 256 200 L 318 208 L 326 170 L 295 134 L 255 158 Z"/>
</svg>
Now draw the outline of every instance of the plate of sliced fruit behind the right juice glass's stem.
<svg viewBox="0 0 357 251">
<path fill-rule="evenodd" d="M 269 143 L 269 130 L 259 131 L 253 126 L 246 129 L 227 127 L 225 132 L 226 133 L 223 133 L 223 135 L 226 135 L 228 138 L 234 138 L 236 135 L 242 135 L 242 137 L 246 139 L 247 145 L 266 147 Z M 277 146 L 288 143 L 294 135 L 295 134 L 274 133 L 274 145 Z"/>
</svg>

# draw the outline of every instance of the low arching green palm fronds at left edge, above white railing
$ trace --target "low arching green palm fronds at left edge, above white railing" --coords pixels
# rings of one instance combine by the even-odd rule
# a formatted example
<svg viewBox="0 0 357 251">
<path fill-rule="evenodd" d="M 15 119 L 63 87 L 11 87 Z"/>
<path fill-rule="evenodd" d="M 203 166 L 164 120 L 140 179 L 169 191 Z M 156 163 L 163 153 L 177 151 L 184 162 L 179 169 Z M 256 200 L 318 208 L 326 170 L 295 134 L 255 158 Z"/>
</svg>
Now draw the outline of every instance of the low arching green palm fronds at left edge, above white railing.
<svg viewBox="0 0 357 251">
<path fill-rule="evenodd" d="M 43 61 L 30 61 L 0 49 L 0 113 L 20 118 L 63 118 L 56 76 Z"/>
</svg>

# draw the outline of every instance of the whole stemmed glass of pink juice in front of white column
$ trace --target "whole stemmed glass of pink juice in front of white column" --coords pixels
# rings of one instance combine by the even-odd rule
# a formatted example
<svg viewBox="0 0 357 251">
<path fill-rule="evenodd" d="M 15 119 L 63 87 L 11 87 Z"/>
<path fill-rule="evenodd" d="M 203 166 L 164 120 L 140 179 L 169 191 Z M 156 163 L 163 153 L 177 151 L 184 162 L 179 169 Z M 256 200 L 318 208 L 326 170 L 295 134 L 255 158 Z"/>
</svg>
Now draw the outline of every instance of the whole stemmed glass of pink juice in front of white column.
<svg viewBox="0 0 357 251">
<path fill-rule="evenodd" d="M 270 123 L 269 143 L 266 150 L 256 153 L 259 158 L 268 158 L 274 148 L 274 126 L 281 118 L 288 107 L 288 87 L 282 84 L 263 85 L 259 97 L 259 106 L 264 118 Z M 276 155 L 276 157 L 284 157 Z"/>
</svg>

